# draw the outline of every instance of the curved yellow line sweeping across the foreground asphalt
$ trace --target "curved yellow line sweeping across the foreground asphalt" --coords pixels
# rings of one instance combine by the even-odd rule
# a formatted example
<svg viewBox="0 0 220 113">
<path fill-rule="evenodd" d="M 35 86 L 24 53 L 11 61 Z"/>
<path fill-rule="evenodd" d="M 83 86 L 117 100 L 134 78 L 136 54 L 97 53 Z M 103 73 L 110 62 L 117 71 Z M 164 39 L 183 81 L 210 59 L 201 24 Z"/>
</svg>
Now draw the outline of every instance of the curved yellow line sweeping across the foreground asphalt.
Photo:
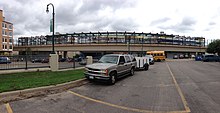
<svg viewBox="0 0 220 113">
<path fill-rule="evenodd" d="M 78 96 L 80 98 L 84 98 L 86 100 L 90 100 L 90 101 L 93 101 L 93 102 L 96 102 L 96 103 L 104 104 L 104 105 L 111 106 L 111 107 L 118 108 L 118 109 L 132 111 L 132 112 L 139 112 L 139 113 L 188 113 L 186 111 L 169 111 L 169 112 L 167 112 L 167 111 L 149 111 L 149 110 L 143 110 L 143 109 L 137 109 L 137 108 L 130 108 L 130 107 L 111 104 L 111 103 L 104 102 L 104 101 L 101 101 L 101 100 L 86 97 L 86 96 L 80 95 L 80 94 L 75 93 L 75 92 L 70 91 L 70 90 L 68 92 L 75 95 L 75 96 Z"/>
</svg>

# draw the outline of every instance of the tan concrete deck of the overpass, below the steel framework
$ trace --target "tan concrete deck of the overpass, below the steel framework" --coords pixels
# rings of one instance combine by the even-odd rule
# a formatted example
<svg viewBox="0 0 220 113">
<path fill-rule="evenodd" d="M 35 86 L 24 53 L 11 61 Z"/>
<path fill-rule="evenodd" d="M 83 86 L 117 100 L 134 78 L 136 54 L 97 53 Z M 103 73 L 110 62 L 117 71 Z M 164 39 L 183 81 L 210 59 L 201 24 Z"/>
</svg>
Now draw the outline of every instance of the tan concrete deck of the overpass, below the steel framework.
<svg viewBox="0 0 220 113">
<path fill-rule="evenodd" d="M 33 54 L 49 54 L 52 51 L 52 45 L 29 45 L 15 46 L 15 51 L 20 53 L 31 51 Z M 68 56 L 72 52 L 92 53 L 114 53 L 114 52 L 132 52 L 142 53 L 142 51 L 160 50 L 165 51 L 167 57 L 173 54 L 197 54 L 204 53 L 206 47 L 185 46 L 185 45 L 165 45 L 165 44 L 55 44 L 55 51 L 62 56 Z M 70 55 L 71 56 L 71 55 Z"/>
</svg>

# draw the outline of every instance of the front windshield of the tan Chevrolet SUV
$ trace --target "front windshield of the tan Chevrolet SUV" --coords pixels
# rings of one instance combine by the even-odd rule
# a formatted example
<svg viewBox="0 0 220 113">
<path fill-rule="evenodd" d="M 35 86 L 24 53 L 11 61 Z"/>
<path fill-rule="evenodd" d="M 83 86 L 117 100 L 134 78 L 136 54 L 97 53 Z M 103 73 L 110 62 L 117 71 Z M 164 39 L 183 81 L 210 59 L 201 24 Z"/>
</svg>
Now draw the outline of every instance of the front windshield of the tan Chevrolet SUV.
<svg viewBox="0 0 220 113">
<path fill-rule="evenodd" d="M 117 64 L 118 62 L 118 56 L 103 56 L 100 60 L 99 63 L 113 63 Z"/>
</svg>

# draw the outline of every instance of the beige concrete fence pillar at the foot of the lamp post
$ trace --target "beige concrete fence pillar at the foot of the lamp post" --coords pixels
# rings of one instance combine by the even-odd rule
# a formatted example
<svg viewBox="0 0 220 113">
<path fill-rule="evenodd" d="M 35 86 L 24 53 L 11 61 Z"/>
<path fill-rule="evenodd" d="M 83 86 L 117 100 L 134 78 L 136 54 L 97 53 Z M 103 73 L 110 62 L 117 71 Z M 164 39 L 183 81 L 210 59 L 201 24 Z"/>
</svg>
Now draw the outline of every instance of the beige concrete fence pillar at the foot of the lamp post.
<svg viewBox="0 0 220 113">
<path fill-rule="evenodd" d="M 58 71 L 59 62 L 57 54 L 50 54 L 50 69 L 51 71 Z"/>
</svg>

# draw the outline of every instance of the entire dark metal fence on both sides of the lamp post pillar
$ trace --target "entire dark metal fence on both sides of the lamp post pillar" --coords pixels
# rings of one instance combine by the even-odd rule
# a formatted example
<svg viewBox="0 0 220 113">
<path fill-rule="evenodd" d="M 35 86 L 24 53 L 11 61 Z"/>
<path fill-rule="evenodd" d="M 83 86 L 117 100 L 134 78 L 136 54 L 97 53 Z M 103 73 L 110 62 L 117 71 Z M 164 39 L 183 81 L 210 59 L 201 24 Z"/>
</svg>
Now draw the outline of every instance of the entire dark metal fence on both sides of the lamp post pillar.
<svg viewBox="0 0 220 113">
<path fill-rule="evenodd" d="M 93 59 L 97 62 L 98 59 Z M 59 58 L 59 69 L 84 67 L 87 64 L 86 58 Z M 49 68 L 49 56 L 47 55 L 16 55 L 0 56 L 0 70 Z"/>
</svg>

